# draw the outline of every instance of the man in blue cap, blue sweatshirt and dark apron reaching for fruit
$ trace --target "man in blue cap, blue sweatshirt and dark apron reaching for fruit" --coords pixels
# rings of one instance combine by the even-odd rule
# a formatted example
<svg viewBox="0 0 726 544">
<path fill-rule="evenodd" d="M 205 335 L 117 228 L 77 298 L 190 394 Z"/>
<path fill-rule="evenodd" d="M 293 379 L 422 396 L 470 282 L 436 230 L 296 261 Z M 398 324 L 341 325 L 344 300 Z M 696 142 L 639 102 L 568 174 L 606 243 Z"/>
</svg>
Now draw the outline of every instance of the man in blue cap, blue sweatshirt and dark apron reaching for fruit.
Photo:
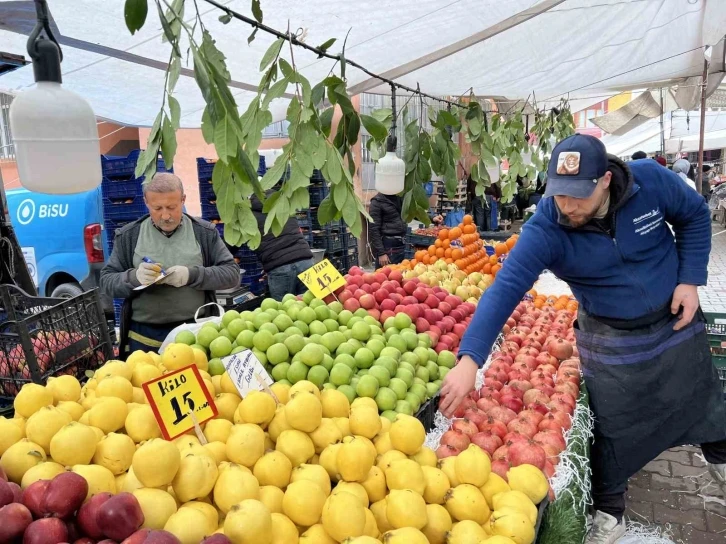
<svg viewBox="0 0 726 544">
<path fill-rule="evenodd" d="M 440 409 L 451 416 L 474 388 L 539 274 L 566 281 L 579 301 L 575 333 L 595 414 L 586 544 L 613 544 L 625 533 L 628 478 L 668 448 L 700 444 L 726 488 L 726 408 L 697 291 L 711 221 L 678 176 L 655 161 L 626 165 L 592 136 L 557 144 L 547 175 L 544 198 L 461 342 Z"/>
</svg>

